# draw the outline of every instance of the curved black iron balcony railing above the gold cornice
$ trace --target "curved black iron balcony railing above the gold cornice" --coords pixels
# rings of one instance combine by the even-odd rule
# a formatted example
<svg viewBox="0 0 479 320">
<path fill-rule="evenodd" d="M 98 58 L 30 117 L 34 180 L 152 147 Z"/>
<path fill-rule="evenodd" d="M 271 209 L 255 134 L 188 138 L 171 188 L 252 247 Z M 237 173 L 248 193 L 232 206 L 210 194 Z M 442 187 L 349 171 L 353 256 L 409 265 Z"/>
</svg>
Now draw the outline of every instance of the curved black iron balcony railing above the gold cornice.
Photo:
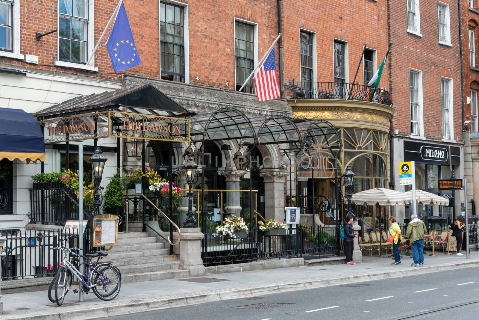
<svg viewBox="0 0 479 320">
<path fill-rule="evenodd" d="M 285 89 L 295 99 L 344 99 L 392 105 L 389 92 L 354 83 L 290 81 Z"/>
</svg>

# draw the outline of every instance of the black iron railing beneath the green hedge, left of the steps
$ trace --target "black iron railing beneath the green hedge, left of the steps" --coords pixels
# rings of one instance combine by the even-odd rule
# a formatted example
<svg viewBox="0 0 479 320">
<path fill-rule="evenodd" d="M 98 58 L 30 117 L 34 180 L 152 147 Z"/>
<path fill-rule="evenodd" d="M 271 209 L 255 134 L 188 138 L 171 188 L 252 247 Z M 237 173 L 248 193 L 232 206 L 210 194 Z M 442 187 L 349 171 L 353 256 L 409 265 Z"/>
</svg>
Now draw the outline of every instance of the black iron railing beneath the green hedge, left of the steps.
<svg viewBox="0 0 479 320">
<path fill-rule="evenodd" d="M 30 212 L 34 222 L 63 225 L 67 219 L 78 220 L 76 194 L 64 183 L 34 183 L 30 189 Z M 84 217 L 89 216 L 86 207 Z"/>
</svg>

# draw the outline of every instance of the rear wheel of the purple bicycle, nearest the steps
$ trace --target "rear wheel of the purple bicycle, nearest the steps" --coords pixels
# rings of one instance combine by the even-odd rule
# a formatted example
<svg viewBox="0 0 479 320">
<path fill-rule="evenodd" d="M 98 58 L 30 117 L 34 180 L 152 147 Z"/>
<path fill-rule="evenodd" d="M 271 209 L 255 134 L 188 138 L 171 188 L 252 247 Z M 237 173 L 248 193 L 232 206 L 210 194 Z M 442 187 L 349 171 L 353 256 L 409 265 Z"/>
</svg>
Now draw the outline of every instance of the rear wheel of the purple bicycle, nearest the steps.
<svg viewBox="0 0 479 320">
<path fill-rule="evenodd" d="M 120 293 L 121 278 L 118 270 L 109 264 L 101 264 L 95 269 L 98 273 L 91 273 L 91 284 L 96 285 L 92 288 L 93 293 L 102 300 L 113 300 Z"/>
</svg>

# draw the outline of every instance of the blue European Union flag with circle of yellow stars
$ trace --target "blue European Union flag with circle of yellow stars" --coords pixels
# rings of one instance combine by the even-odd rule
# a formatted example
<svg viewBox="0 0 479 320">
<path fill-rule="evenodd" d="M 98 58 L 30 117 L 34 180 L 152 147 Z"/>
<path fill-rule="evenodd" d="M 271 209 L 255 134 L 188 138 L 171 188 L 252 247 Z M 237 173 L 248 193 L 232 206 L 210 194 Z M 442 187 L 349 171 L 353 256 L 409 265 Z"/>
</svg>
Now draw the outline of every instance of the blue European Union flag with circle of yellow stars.
<svg viewBox="0 0 479 320">
<path fill-rule="evenodd" d="M 106 48 L 110 54 L 110 59 L 112 59 L 115 72 L 141 64 L 123 2 L 116 14 L 112 33 L 106 41 Z"/>
</svg>

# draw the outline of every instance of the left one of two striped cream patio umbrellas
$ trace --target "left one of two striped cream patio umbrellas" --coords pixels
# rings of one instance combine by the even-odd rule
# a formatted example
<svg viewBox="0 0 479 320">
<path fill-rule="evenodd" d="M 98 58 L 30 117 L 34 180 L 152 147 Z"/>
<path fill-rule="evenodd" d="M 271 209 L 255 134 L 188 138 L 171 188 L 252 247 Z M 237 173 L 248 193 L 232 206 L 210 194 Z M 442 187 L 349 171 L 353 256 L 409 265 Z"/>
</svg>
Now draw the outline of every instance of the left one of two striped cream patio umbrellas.
<svg viewBox="0 0 479 320">
<path fill-rule="evenodd" d="M 374 188 L 353 194 L 351 202 L 356 205 L 367 206 L 404 206 L 408 205 L 411 199 L 411 194 L 405 192 Z"/>
</svg>

